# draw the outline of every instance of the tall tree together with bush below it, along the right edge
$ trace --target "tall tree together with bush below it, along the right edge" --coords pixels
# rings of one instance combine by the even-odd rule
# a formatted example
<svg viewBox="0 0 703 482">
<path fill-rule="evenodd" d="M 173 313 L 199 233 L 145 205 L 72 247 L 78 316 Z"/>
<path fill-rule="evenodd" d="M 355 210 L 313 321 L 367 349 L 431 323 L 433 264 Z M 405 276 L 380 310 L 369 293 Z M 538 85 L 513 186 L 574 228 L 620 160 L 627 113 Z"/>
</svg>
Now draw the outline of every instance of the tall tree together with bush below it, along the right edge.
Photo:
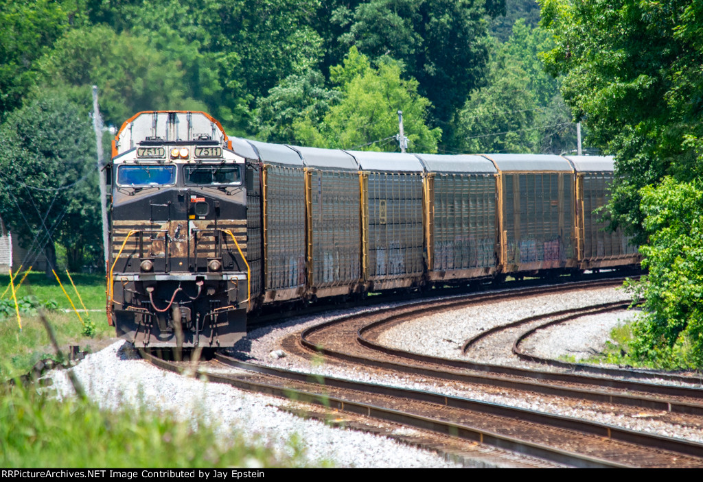
<svg viewBox="0 0 703 482">
<path fill-rule="evenodd" d="M 650 269 L 635 354 L 703 366 L 703 4 L 544 0 L 542 13 L 557 38 L 548 67 L 616 157 L 611 225 L 636 234 Z"/>
</svg>

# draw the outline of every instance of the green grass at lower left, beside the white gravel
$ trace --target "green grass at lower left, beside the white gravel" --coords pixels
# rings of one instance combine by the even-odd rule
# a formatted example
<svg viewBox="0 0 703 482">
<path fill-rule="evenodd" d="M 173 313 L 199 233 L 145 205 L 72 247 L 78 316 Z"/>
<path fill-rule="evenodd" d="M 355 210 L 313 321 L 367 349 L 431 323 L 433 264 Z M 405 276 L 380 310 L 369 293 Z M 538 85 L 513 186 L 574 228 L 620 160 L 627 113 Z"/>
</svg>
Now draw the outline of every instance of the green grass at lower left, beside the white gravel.
<svg viewBox="0 0 703 482">
<path fill-rule="evenodd" d="M 87 314 L 96 325 L 96 333 L 93 337 L 83 335 L 83 325 L 76 314 L 64 311 L 70 308 L 70 303 L 56 279 L 46 279 L 43 273 L 30 273 L 18 292 L 23 309 L 22 329 L 18 326 L 14 303 L 11 312 L 0 310 L 0 380 L 27 373 L 40 359 L 54 358 L 49 336 L 36 312 L 37 305 L 47 300 L 56 302 L 55 309 L 46 312 L 46 316 L 63 347 L 84 348 L 115 336 L 104 312 L 104 277 L 76 274 L 72 278 L 86 307 L 100 310 Z M 66 282 L 65 289 L 80 307 L 65 273 L 61 281 Z M 0 276 L 0 293 L 9 282 L 9 276 Z M 5 300 L 11 300 L 9 292 Z M 138 410 L 110 412 L 86 399 L 58 400 L 51 391 L 37 391 L 33 387 L 10 388 L 8 384 L 0 384 L 0 421 L 0 467 L 195 469 L 302 467 L 308 463 L 295 434 L 282 454 L 265 443 L 244 440 L 236 433 L 216 433 L 198 414 L 193 414 L 187 422 L 179 422 L 146 403 Z"/>
</svg>

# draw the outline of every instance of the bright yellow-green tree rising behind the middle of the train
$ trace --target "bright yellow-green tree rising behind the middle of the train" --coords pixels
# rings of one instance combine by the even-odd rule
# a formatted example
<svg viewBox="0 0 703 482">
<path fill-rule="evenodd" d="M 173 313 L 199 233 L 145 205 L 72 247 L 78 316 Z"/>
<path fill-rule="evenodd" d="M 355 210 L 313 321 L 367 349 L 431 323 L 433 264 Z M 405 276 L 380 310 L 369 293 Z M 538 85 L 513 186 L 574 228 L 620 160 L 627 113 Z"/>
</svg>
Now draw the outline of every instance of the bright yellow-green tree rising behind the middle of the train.
<svg viewBox="0 0 703 482">
<path fill-rule="evenodd" d="M 437 152 L 441 130 L 425 123 L 430 101 L 418 94 L 417 81 L 403 80 L 401 73 L 399 62 L 386 58 L 374 68 L 352 47 L 344 64 L 330 72 L 342 100 L 330 107 L 320 124 L 309 116 L 296 121 L 297 138 L 314 147 L 394 152 L 398 147 L 392 137 L 398 132 L 401 110 L 409 150 Z"/>
</svg>

